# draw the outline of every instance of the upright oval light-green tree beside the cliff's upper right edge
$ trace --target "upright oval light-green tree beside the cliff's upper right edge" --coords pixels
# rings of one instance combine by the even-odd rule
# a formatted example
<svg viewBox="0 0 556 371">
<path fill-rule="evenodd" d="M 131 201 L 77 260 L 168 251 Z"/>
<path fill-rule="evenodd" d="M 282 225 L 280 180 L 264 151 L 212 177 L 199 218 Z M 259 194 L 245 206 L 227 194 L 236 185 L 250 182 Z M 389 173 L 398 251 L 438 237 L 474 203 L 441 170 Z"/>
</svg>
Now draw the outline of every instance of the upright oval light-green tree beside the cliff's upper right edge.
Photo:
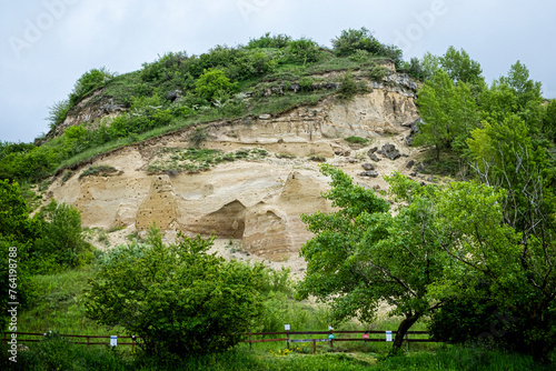
<svg viewBox="0 0 556 371">
<path fill-rule="evenodd" d="M 476 102 L 467 83 L 454 84 L 448 73 L 438 69 L 425 81 L 416 102 L 425 123 L 419 126 L 420 133 L 414 143 L 434 146 L 437 160 L 443 149 L 461 151 L 478 121 Z"/>
</svg>

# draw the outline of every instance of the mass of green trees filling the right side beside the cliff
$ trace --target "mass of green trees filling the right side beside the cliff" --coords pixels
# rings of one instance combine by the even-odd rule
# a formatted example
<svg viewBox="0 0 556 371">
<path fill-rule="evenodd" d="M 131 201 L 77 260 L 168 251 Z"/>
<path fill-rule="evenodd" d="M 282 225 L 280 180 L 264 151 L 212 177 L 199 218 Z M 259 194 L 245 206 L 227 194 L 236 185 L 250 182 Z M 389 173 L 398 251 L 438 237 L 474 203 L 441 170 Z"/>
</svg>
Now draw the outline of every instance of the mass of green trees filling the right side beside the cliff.
<svg viewBox="0 0 556 371">
<path fill-rule="evenodd" d="M 373 319 L 387 301 L 404 315 L 398 337 L 431 315 L 438 340 L 547 362 L 556 347 L 554 101 L 544 102 L 519 61 L 492 87 L 464 50 L 427 54 L 421 66 L 414 144 L 434 148 L 438 168 L 451 159 L 468 164 L 459 173 L 467 181 L 387 178 L 383 198 L 400 202 L 391 212 L 371 190 L 324 167 L 332 179 L 325 197 L 340 210 L 304 217 L 316 237 L 301 249 L 308 271 L 299 292 L 329 302 L 337 321 Z M 401 339 L 393 345 L 395 353 Z"/>
</svg>

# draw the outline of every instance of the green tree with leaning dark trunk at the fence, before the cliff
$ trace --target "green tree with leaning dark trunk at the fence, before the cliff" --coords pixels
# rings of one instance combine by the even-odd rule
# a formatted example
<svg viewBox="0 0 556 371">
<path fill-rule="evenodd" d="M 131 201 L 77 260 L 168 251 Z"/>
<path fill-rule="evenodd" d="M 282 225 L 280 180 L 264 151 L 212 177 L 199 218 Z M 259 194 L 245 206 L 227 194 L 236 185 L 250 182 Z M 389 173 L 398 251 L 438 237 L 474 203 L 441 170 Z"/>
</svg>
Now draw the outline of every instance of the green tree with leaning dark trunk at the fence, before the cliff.
<svg viewBox="0 0 556 371">
<path fill-rule="evenodd" d="M 439 249 L 426 228 L 434 188 L 390 178 L 391 199 L 409 203 L 394 213 L 386 200 L 353 184 L 340 170 L 322 166 L 321 171 L 331 177 L 325 198 L 339 210 L 302 215 L 315 238 L 300 250 L 307 274 L 299 294 L 329 302 L 335 321 L 370 322 L 380 303 L 394 305 L 390 314 L 404 317 L 393 343 L 396 352 L 411 325 L 440 304 L 427 290 L 443 275 Z"/>
</svg>

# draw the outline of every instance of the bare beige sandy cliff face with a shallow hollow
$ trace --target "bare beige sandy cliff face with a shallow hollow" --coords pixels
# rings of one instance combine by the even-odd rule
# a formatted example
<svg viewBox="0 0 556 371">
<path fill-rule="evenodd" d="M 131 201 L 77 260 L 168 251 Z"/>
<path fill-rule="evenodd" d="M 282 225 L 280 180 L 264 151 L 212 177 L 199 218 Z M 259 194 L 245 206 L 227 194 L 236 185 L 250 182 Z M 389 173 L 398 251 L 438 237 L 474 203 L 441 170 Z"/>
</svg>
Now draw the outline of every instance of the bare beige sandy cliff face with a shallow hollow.
<svg viewBox="0 0 556 371">
<path fill-rule="evenodd" d="M 99 158 L 93 164 L 109 164 L 118 172 L 79 178 L 85 169 L 78 169 L 63 183 L 60 177 L 50 194 L 77 207 L 87 227 L 123 227 L 129 233 L 156 222 L 168 235 L 182 231 L 239 240 L 244 250 L 274 261 L 297 255 L 311 237 L 300 214 L 331 211 L 321 197 L 328 179 L 310 157 L 342 167 L 369 188 L 384 188 L 381 176 L 394 170 L 409 171 L 404 156 L 414 150 L 404 146 L 404 138 L 417 119 L 416 87 L 403 76 L 395 83 L 369 86 L 369 93 L 350 102 L 328 98 L 279 117 L 217 122 L 207 128 L 205 148 L 224 153 L 260 148 L 268 152 L 266 157 L 224 162 L 198 173 L 147 172 L 162 149 L 179 152 L 190 146 L 189 132 L 183 130 Z M 354 148 L 342 139 L 349 136 L 371 142 Z M 370 161 L 368 149 L 385 143 L 394 143 L 403 157 Z M 364 162 L 373 162 L 379 177 L 358 176 Z"/>
</svg>

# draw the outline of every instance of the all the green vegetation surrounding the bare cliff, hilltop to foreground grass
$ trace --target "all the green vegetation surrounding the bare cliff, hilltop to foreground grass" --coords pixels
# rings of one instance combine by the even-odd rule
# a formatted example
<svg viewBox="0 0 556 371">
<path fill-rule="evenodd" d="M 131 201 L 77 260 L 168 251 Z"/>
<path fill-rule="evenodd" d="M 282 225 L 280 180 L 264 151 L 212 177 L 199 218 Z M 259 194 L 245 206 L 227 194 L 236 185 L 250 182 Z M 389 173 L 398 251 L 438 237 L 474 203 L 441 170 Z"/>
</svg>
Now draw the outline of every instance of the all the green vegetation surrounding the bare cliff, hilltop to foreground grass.
<svg viewBox="0 0 556 371">
<path fill-rule="evenodd" d="M 519 61 L 487 86 L 480 64 L 453 47 L 444 56 L 407 62 L 398 48 L 380 43 L 365 28 L 342 31 L 331 43 L 327 49 L 310 39 L 267 33 L 201 56 L 170 52 L 126 74 L 93 69 L 50 109 L 51 134 L 63 133 L 40 146 L 0 142 L 0 251 L 17 260 L 23 310 L 18 330 L 53 331 L 21 351 L 17 368 L 544 370 L 554 364 L 556 101 L 544 101 L 540 83 Z M 388 72 L 380 59 L 423 81 L 417 99 L 423 123 L 414 144 L 430 148 L 428 171 L 457 172 L 465 182 L 424 186 L 394 174 L 387 178 L 389 191 L 379 197 L 322 166 L 332 180 L 326 197 L 338 209 L 302 217 L 315 238 L 301 249 L 308 269 L 295 288 L 287 270 L 207 253 L 210 239 L 182 238 L 167 245 L 152 229 L 146 241 L 100 252 L 85 241 L 76 209 L 52 201 L 30 217 L 26 198 L 33 199 L 32 192 L 22 192 L 18 181 L 36 182 L 181 128 L 192 128 L 191 148 L 163 149 L 163 161 L 149 163 L 148 171 L 195 172 L 265 157 L 261 149 L 227 154 L 200 149 L 203 126 L 276 114 L 330 94 L 353 99 L 367 87 L 351 71 L 381 80 Z M 327 71 L 341 73 L 334 81 L 318 76 Z M 338 89 L 322 88 L 324 82 Z M 111 122 L 62 130 L 79 103 L 122 113 Z M 90 167 L 80 177 L 116 171 Z M 0 262 L 4 329 L 13 264 Z M 329 307 L 294 295 L 315 295 Z M 341 344 L 337 350 L 357 353 L 320 347 L 309 355 L 302 347 L 287 352 L 280 344 L 255 351 L 238 345 L 240 332 L 280 331 L 284 323 L 302 330 L 329 323 L 359 328 L 349 320 L 371 323 L 384 302 L 394 318 L 380 323 L 398 329 L 393 349 Z M 405 332 L 426 325 L 445 345 L 405 351 Z M 113 332 L 139 334 L 145 345 L 133 354 L 87 350 L 58 335 Z M 1 352 L 1 367 L 13 367 Z"/>
</svg>

